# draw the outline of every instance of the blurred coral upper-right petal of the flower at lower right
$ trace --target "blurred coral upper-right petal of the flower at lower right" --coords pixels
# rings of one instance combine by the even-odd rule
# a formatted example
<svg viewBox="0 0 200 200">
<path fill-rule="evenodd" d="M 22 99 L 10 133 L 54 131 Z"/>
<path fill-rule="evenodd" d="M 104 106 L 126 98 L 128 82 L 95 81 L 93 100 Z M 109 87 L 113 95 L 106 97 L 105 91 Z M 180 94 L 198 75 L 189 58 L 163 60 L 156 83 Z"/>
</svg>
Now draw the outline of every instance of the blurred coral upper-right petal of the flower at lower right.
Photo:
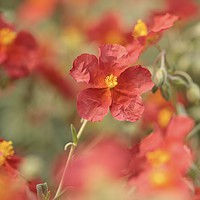
<svg viewBox="0 0 200 200">
<path fill-rule="evenodd" d="M 182 143 L 194 126 L 193 119 L 186 116 L 174 117 L 167 129 L 166 139 Z"/>
</svg>

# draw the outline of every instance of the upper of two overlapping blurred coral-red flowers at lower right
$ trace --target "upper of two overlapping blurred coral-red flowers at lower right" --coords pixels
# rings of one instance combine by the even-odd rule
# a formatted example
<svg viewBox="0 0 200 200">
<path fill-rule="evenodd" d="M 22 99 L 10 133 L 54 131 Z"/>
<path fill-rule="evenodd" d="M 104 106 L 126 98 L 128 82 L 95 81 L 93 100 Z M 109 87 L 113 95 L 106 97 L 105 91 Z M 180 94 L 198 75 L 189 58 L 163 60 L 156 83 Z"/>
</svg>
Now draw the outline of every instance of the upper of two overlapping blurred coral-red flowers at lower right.
<svg viewBox="0 0 200 200">
<path fill-rule="evenodd" d="M 193 126 L 194 121 L 189 117 L 172 118 L 165 131 L 158 129 L 141 142 L 141 155 L 146 156 L 151 165 L 168 164 L 185 174 L 191 166 L 192 155 L 184 139 Z"/>
</svg>

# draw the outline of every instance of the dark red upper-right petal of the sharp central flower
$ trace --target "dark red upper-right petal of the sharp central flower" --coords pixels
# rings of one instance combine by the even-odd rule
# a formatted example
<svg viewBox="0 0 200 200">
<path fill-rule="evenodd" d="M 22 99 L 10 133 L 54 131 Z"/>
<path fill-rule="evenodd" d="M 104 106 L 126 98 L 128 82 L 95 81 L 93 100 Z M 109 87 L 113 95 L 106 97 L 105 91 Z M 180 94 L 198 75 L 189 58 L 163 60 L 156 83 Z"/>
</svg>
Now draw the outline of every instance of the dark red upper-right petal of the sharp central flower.
<svg viewBox="0 0 200 200">
<path fill-rule="evenodd" d="M 151 73 L 148 69 L 135 66 L 129 67 L 118 78 L 118 85 L 115 90 L 120 91 L 127 96 L 141 94 L 153 87 Z"/>
</svg>

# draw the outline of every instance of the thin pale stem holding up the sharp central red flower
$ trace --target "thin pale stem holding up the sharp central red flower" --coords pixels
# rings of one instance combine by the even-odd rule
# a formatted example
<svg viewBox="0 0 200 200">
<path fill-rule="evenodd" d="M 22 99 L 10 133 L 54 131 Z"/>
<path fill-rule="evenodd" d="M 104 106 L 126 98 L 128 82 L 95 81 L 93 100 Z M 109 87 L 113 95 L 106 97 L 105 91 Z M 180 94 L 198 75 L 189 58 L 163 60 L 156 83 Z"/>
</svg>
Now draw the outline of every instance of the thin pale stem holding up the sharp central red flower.
<svg viewBox="0 0 200 200">
<path fill-rule="evenodd" d="M 82 133 L 83 133 L 83 130 L 84 130 L 84 128 L 85 128 L 87 122 L 88 122 L 87 120 L 84 120 L 84 121 L 83 121 L 83 123 L 82 123 L 82 125 L 81 125 L 81 128 L 79 129 L 79 131 L 78 131 L 78 133 L 77 133 L 77 140 L 78 140 L 78 141 L 79 141 L 79 139 L 80 139 L 80 137 L 81 137 L 81 135 L 82 135 Z M 78 142 L 78 141 L 77 141 L 77 142 Z M 58 198 L 61 196 L 61 194 L 63 193 L 63 191 L 62 191 L 62 190 L 63 190 L 63 181 L 64 181 L 64 178 L 65 178 L 65 174 L 66 174 L 67 168 L 68 168 L 68 166 L 69 166 L 69 162 L 70 162 L 70 160 L 71 160 L 71 158 L 72 158 L 72 156 L 73 156 L 73 154 L 74 154 L 75 148 L 76 148 L 76 146 L 71 145 L 71 148 L 70 148 L 70 151 L 69 151 L 69 155 L 68 155 L 68 158 L 67 158 L 67 161 L 66 161 L 66 164 L 65 164 L 65 168 L 64 168 L 64 171 L 63 171 L 63 174 L 62 174 L 62 177 L 61 177 L 61 180 L 60 180 L 58 189 L 57 189 L 57 191 L 56 191 L 56 195 L 55 195 L 55 197 L 53 198 L 53 200 L 58 199 Z"/>
</svg>

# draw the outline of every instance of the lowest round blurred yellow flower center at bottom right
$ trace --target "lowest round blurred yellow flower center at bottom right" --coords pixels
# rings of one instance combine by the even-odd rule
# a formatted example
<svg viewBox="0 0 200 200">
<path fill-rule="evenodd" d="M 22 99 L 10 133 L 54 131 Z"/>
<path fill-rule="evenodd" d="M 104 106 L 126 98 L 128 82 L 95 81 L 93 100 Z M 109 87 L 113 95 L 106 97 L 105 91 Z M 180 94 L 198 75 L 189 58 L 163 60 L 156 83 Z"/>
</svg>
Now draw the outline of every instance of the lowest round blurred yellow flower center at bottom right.
<svg viewBox="0 0 200 200">
<path fill-rule="evenodd" d="M 150 182 L 156 187 L 167 186 L 170 183 L 171 174 L 168 171 L 155 169 L 150 172 Z"/>
</svg>

